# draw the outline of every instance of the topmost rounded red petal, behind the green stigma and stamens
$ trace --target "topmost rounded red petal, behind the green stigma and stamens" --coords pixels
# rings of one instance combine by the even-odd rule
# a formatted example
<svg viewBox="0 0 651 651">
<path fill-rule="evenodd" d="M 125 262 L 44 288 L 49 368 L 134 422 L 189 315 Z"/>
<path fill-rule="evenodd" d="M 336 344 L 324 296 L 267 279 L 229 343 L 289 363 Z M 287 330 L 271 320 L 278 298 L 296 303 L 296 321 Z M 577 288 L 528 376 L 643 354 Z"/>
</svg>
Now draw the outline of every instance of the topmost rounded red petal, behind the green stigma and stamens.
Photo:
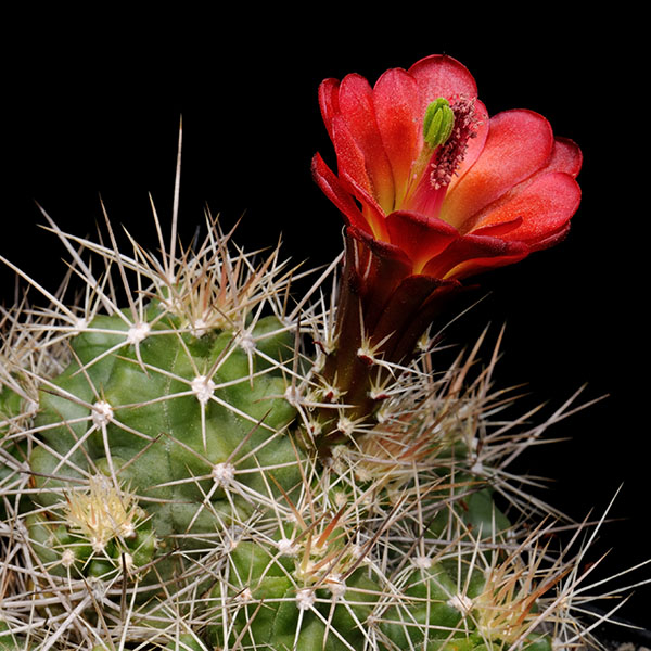
<svg viewBox="0 0 651 651">
<path fill-rule="evenodd" d="M 427 105 L 437 98 L 452 99 L 463 94 L 477 95 L 477 85 L 470 71 L 456 59 L 446 54 L 432 54 L 417 61 L 408 71 L 421 91 L 420 119 Z"/>
</svg>

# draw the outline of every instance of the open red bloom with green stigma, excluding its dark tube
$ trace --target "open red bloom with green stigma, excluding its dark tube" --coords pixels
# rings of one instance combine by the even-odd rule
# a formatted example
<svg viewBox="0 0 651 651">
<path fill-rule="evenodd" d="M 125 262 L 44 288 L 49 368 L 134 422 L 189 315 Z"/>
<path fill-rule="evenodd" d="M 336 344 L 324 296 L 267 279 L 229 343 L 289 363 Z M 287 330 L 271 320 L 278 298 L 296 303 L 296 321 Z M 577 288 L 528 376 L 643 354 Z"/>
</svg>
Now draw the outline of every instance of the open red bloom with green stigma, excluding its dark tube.
<svg viewBox="0 0 651 651">
<path fill-rule="evenodd" d="M 561 240 L 578 207 L 573 142 L 524 110 L 488 119 L 470 72 L 446 55 L 319 89 L 337 175 L 312 171 L 347 232 L 404 276 L 462 279 Z"/>
</svg>

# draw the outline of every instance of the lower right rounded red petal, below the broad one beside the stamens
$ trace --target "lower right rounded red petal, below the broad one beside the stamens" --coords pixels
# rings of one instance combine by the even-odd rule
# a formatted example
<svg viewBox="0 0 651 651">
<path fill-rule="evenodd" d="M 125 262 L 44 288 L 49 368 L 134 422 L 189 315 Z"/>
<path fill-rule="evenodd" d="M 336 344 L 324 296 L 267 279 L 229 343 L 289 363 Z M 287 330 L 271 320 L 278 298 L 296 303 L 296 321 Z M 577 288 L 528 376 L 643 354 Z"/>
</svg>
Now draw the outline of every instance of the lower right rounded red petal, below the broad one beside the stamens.
<svg viewBox="0 0 651 651">
<path fill-rule="evenodd" d="M 520 217 L 520 228 L 502 237 L 510 241 L 536 245 L 570 221 L 578 208 L 580 189 L 570 175 L 550 171 L 538 175 L 523 189 L 518 188 L 505 199 L 506 201 L 498 202 L 498 205 L 486 210 L 473 229 L 473 234 L 476 234 L 478 228 L 510 224 Z"/>
</svg>

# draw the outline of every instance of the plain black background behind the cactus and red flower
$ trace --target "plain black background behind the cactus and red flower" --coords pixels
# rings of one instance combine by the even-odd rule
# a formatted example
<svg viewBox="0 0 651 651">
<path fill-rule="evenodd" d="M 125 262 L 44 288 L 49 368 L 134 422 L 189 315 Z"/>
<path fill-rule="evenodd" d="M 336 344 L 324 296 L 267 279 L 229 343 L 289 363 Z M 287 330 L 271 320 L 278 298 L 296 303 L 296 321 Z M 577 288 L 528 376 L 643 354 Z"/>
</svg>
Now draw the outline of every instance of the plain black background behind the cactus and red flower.
<svg viewBox="0 0 651 651">
<path fill-rule="evenodd" d="M 527 383 L 536 401 L 598 405 L 549 432 L 571 437 L 532 450 L 518 470 L 553 480 L 541 496 L 576 519 L 604 511 L 622 485 L 590 560 L 613 548 L 601 575 L 651 558 L 648 515 L 648 117 L 640 97 L 642 49 L 625 21 L 591 23 L 559 12 L 527 17 L 419 5 L 399 16 L 353 20 L 332 7 L 227 18 L 82 16 L 16 21 L 4 55 L 4 155 L 0 253 L 49 289 L 63 248 L 38 225 L 35 201 L 64 229 L 94 231 L 100 195 L 114 224 L 155 246 L 148 192 L 168 220 L 179 119 L 183 119 L 181 237 L 205 206 L 238 242 L 276 243 L 295 260 L 329 261 L 341 219 L 314 184 L 316 151 L 333 163 L 317 104 L 326 77 L 369 80 L 446 52 L 475 76 L 490 114 L 527 107 L 583 149 L 584 192 L 569 238 L 515 267 L 482 278 L 487 298 L 450 330 L 472 341 L 506 323 L 501 386 Z M 248 10 L 246 10 L 248 11 Z M 341 11 L 341 10 L 337 10 Z M 243 12 L 246 14 L 246 12 Z M 487 13 L 487 12 L 486 12 Z M 50 22 L 51 18 L 51 22 Z M 374 21 L 371 21 L 374 18 Z M 63 27 L 62 27 L 63 26 Z M 0 271 L 11 303 L 13 276 Z M 527 405 L 523 401 L 523 409 Z M 651 570 L 637 573 L 637 578 Z M 649 626 L 648 588 L 622 613 Z"/>
</svg>

